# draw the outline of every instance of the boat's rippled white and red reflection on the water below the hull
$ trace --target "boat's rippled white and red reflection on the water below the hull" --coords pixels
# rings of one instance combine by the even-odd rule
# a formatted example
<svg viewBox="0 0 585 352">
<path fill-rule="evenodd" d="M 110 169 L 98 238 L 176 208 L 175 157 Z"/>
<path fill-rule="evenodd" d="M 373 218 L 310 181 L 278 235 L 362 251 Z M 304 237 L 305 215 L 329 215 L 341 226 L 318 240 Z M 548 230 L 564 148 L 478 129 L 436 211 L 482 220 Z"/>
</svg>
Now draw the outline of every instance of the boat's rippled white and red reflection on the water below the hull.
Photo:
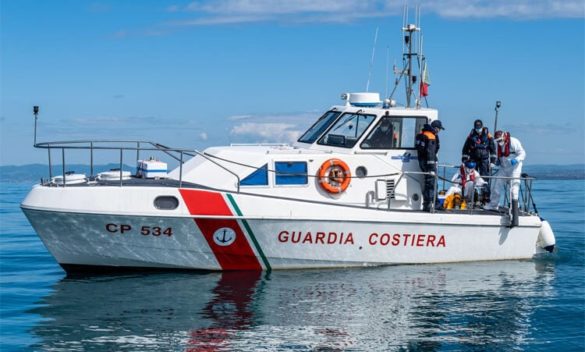
<svg viewBox="0 0 585 352">
<path fill-rule="evenodd" d="M 554 270 L 510 264 L 64 279 L 32 333 L 42 350 L 506 349 Z"/>
</svg>

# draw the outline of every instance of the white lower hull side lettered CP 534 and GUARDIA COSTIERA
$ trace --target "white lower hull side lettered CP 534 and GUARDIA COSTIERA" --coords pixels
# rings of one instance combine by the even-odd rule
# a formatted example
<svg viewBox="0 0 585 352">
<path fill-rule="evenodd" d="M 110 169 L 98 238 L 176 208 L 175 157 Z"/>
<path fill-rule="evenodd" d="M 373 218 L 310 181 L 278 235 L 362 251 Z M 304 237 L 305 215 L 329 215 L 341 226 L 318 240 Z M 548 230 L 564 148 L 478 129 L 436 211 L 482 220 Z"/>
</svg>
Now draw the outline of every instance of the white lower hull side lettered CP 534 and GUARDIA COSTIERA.
<svg viewBox="0 0 585 352">
<path fill-rule="evenodd" d="M 23 211 L 66 270 L 355 267 L 523 259 L 542 252 L 536 226 L 409 223 L 408 214 L 401 222 L 364 222 Z"/>
</svg>

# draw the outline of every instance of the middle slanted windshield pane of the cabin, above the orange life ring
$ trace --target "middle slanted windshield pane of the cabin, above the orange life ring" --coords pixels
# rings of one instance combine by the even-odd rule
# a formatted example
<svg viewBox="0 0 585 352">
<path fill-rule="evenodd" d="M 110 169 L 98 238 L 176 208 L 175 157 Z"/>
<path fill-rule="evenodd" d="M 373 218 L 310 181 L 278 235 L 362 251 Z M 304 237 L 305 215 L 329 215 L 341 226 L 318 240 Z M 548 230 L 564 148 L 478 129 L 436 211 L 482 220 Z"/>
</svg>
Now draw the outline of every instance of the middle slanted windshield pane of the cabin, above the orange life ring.
<svg viewBox="0 0 585 352">
<path fill-rule="evenodd" d="M 332 147 L 353 148 L 375 119 L 375 115 L 345 113 L 318 143 Z"/>
</svg>

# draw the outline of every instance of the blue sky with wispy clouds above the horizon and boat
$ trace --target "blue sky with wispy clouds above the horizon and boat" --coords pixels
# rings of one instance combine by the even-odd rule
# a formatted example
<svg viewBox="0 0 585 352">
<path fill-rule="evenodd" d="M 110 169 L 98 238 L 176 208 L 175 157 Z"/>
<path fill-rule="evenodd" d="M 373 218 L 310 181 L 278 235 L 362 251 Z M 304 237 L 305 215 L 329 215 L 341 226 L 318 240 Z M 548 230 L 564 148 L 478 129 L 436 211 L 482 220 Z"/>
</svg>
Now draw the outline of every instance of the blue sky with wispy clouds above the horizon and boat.
<svg viewBox="0 0 585 352">
<path fill-rule="evenodd" d="M 441 161 L 460 161 L 476 118 L 493 129 L 500 100 L 498 125 L 526 163 L 585 163 L 585 2 L 410 2 L 410 22 L 417 4 Z M 391 89 L 403 6 L 0 0 L 0 165 L 47 163 L 33 105 L 39 141 L 292 142 L 341 93 L 366 89 L 374 48 L 370 91 Z"/>
</svg>

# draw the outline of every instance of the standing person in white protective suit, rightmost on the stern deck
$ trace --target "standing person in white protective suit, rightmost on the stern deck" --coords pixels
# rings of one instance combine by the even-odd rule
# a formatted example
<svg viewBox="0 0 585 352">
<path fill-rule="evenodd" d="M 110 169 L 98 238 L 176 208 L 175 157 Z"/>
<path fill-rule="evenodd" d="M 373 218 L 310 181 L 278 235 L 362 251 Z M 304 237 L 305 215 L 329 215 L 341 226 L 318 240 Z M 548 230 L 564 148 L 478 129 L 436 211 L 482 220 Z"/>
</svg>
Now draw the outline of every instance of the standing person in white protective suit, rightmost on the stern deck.
<svg viewBox="0 0 585 352">
<path fill-rule="evenodd" d="M 497 131 L 494 135 L 494 141 L 498 148 L 496 164 L 500 166 L 500 169 L 494 176 L 514 177 L 514 179 L 494 179 L 491 187 L 491 201 L 484 209 L 498 208 L 504 186 L 509 182 L 512 188 L 512 208 L 517 210 L 520 189 L 519 177 L 522 174 L 522 162 L 526 158 L 526 152 L 522 148 L 520 141 L 510 136 L 510 132 Z"/>
</svg>

